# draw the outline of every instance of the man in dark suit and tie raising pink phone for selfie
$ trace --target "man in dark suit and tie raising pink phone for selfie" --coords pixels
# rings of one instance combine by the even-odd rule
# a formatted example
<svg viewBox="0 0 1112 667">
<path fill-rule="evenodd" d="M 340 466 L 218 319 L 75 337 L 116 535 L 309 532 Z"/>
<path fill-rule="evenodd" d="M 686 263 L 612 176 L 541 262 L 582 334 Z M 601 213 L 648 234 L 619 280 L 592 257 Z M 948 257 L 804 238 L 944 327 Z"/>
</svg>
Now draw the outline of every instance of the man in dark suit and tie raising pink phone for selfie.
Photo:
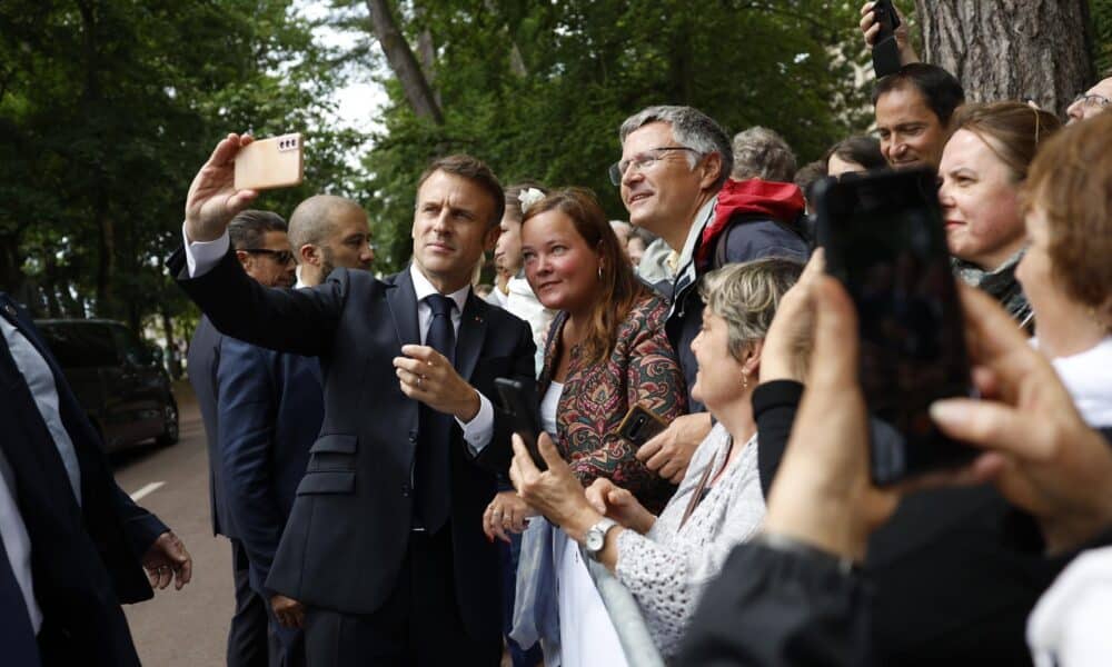
<svg viewBox="0 0 1112 667">
<path fill-rule="evenodd" d="M 257 195 L 232 186 L 249 141 L 229 135 L 193 180 L 188 253 L 170 268 L 226 335 L 321 360 L 321 436 L 267 587 L 306 605 L 310 665 L 497 665 L 498 557 L 481 515 L 512 422 L 489 397 L 497 377 L 532 388 L 534 354 L 525 322 L 470 291 L 502 186 L 474 158 L 437 160 L 418 183 L 406 270 L 266 289 L 225 236 Z"/>
</svg>

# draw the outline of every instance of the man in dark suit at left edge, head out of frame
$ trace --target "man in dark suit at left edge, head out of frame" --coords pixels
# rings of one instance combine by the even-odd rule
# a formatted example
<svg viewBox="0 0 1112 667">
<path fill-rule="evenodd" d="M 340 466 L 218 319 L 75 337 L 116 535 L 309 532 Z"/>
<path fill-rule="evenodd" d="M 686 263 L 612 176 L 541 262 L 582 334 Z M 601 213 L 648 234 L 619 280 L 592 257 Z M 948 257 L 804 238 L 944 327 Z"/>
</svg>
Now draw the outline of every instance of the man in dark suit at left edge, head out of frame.
<svg viewBox="0 0 1112 667">
<path fill-rule="evenodd" d="M 138 666 L 120 603 L 148 599 L 152 585 L 175 578 L 181 588 L 192 560 L 116 486 L 96 429 L 30 316 L 2 292 L 0 331 L 2 659 Z"/>
</svg>

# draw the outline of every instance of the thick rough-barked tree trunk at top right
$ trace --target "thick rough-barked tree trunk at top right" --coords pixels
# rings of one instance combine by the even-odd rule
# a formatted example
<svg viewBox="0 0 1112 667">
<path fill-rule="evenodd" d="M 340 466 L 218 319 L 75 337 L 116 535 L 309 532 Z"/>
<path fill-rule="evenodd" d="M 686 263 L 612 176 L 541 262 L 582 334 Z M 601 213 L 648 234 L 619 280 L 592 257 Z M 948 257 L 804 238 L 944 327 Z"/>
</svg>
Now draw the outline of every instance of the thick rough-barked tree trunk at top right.
<svg viewBox="0 0 1112 667">
<path fill-rule="evenodd" d="M 915 0 L 923 60 L 969 101 L 1033 99 L 1063 113 L 1093 76 L 1086 0 Z"/>
</svg>

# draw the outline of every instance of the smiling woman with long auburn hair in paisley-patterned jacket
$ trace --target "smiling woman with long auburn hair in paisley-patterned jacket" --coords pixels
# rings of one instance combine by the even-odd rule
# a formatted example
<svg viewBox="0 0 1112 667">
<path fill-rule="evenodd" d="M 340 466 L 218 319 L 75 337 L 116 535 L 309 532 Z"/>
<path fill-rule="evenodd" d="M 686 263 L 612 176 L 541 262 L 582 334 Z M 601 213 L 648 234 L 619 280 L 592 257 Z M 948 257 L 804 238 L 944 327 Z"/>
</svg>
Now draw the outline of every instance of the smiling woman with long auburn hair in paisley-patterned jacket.
<svg viewBox="0 0 1112 667">
<path fill-rule="evenodd" d="M 684 412 L 683 376 L 664 334 L 667 303 L 634 276 L 606 215 L 585 190 L 557 190 L 529 206 L 522 252 L 537 298 L 559 311 L 538 385 L 542 427 L 577 487 L 613 480 L 658 510 L 674 487 L 637 459 L 636 446 L 618 436 L 618 426 L 635 405 L 665 421 Z M 495 511 L 500 512 L 495 507 L 488 516 Z M 578 545 L 538 522 L 525 535 L 522 564 L 515 619 L 535 625 L 546 657 L 558 646 L 566 667 L 622 665 Z M 532 628 L 518 624 L 514 637 L 535 636 L 523 629 Z"/>
</svg>

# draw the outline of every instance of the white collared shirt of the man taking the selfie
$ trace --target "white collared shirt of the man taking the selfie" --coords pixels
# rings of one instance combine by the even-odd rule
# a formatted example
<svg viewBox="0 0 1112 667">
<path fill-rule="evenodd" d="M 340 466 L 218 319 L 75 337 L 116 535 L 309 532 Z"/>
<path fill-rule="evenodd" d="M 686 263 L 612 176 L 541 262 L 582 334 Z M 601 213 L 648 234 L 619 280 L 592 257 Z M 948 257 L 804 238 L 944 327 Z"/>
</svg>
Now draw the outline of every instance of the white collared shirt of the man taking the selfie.
<svg viewBox="0 0 1112 667">
<path fill-rule="evenodd" d="M 203 276 L 212 270 L 228 252 L 228 248 L 231 245 L 227 231 L 220 238 L 212 241 L 191 241 L 186 236 L 186 226 L 183 222 L 181 225 L 181 237 L 185 239 L 186 267 L 189 270 L 190 278 Z M 433 321 L 433 309 L 425 302 L 425 297 L 436 292 L 437 289 L 433 287 L 433 283 L 428 281 L 428 278 L 416 266 L 410 265 L 409 275 L 413 278 L 414 291 L 417 295 L 417 323 L 420 328 L 420 339 L 424 344 L 428 335 L 428 327 Z M 467 296 L 470 293 L 470 290 L 471 288 L 468 285 L 458 291 L 445 295 L 456 302 L 456 308 L 451 311 L 451 326 L 457 339 L 459 337 L 459 322 L 464 317 L 464 306 L 467 303 Z M 490 400 L 483 396 L 483 392 L 476 391 L 476 394 L 479 396 L 478 414 L 466 424 L 458 417 L 456 418 L 456 422 L 459 424 L 459 427 L 464 431 L 464 440 L 467 441 L 467 447 L 471 450 L 473 455 L 477 456 L 490 441 L 490 437 L 494 436 L 494 407 L 490 405 Z"/>
</svg>

